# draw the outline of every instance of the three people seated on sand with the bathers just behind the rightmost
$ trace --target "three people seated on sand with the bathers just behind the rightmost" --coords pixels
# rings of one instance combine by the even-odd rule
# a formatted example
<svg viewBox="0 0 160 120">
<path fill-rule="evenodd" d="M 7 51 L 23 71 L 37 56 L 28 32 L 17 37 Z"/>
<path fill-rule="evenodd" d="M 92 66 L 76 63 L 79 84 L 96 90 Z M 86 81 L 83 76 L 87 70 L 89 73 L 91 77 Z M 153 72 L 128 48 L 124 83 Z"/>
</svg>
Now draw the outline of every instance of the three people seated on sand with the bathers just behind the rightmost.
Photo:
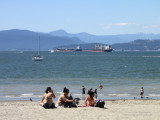
<svg viewBox="0 0 160 120">
<path fill-rule="evenodd" d="M 100 84 L 99 87 L 100 89 L 102 89 L 103 88 L 102 84 Z M 82 86 L 82 94 L 85 94 L 85 90 L 86 90 L 85 87 Z M 53 90 L 51 89 L 51 87 L 47 87 L 41 99 L 40 105 L 43 106 L 44 108 L 55 108 L 55 107 L 64 107 L 67 103 L 74 102 L 72 96 L 69 96 L 69 89 L 66 87 L 63 89 L 63 93 L 58 98 L 56 104 L 53 103 L 52 101 L 53 98 L 56 98 Z M 97 100 L 97 89 L 95 89 L 95 91 L 93 92 L 91 88 L 90 90 L 88 90 L 88 96 L 85 99 L 85 102 L 82 106 L 83 107 L 94 106 L 96 100 Z"/>
</svg>

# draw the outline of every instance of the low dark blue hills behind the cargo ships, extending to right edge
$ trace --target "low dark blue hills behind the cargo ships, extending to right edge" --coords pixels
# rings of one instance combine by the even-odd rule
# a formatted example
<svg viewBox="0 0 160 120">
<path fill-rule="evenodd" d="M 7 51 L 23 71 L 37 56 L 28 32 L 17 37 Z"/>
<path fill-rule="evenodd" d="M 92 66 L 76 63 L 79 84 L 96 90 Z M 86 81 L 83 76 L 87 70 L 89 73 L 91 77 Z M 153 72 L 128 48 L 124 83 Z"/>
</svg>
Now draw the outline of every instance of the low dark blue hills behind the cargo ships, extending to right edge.
<svg viewBox="0 0 160 120">
<path fill-rule="evenodd" d="M 100 44 L 100 43 L 87 43 L 81 44 L 81 48 L 83 50 L 91 50 L 95 48 L 95 45 L 107 45 L 107 44 Z M 60 48 L 76 48 L 77 45 L 66 45 L 66 46 L 59 46 Z M 135 40 L 128 43 L 118 43 L 113 44 L 112 48 L 114 51 L 160 51 L 160 39 L 159 40 Z M 57 47 L 55 48 L 57 49 Z"/>
</svg>

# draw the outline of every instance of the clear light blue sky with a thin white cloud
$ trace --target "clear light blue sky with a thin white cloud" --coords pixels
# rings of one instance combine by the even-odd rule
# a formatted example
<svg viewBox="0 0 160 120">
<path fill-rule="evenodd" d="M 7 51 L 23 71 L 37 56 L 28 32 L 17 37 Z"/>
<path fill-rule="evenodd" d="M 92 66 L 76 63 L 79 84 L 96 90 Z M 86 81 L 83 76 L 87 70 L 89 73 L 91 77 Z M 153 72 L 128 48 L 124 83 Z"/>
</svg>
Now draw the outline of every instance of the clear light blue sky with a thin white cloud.
<svg viewBox="0 0 160 120">
<path fill-rule="evenodd" d="M 160 0 L 0 0 L 0 31 L 160 33 Z"/>
</svg>

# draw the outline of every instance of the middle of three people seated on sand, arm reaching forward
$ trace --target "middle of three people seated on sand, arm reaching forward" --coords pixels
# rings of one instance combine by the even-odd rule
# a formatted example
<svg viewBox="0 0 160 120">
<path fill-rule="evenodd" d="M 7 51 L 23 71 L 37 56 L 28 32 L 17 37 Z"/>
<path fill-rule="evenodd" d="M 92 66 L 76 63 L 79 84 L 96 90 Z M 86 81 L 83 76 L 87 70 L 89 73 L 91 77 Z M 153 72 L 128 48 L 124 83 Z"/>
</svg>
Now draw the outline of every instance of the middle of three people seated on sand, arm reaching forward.
<svg viewBox="0 0 160 120">
<path fill-rule="evenodd" d="M 58 98 L 56 107 L 63 107 L 66 102 L 73 102 L 74 100 L 69 100 L 68 97 L 69 89 L 66 87 L 63 89 L 63 94 Z"/>
</svg>

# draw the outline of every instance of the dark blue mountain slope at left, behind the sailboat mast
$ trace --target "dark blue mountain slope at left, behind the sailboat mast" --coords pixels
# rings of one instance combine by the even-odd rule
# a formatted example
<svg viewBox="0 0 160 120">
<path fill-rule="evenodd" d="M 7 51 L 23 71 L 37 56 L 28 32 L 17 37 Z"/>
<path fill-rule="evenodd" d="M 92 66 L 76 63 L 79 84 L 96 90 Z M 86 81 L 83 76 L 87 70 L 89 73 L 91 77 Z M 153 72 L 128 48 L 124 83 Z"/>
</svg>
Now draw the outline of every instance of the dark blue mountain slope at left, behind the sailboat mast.
<svg viewBox="0 0 160 120">
<path fill-rule="evenodd" d="M 56 46 L 82 44 L 79 38 L 59 37 L 46 33 L 32 32 L 28 30 L 0 31 L 0 51 L 8 50 L 38 50 L 40 36 L 41 50 L 49 50 Z"/>
</svg>

